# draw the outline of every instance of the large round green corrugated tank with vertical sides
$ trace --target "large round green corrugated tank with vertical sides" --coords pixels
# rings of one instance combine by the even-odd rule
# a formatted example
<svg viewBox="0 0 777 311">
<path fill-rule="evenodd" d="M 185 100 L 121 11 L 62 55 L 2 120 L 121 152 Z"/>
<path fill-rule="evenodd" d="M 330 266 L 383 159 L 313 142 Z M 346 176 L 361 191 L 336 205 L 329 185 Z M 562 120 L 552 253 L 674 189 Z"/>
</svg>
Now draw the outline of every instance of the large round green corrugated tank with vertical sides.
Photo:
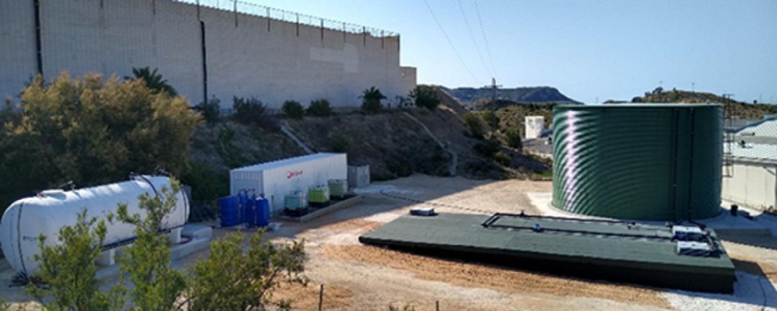
<svg viewBox="0 0 777 311">
<path fill-rule="evenodd" d="M 722 142 L 716 104 L 556 106 L 552 204 L 609 218 L 713 217 Z"/>
</svg>

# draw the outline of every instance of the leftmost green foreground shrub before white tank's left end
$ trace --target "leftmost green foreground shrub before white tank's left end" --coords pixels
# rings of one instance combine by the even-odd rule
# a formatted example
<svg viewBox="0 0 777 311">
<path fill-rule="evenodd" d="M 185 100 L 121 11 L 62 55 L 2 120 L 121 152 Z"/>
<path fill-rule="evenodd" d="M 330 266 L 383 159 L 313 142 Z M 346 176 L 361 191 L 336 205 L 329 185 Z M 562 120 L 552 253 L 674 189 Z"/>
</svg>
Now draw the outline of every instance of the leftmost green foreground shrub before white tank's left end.
<svg viewBox="0 0 777 311">
<path fill-rule="evenodd" d="M 84 208 L 78 213 L 75 225 L 66 225 L 59 230 L 56 245 L 47 246 L 46 236 L 39 236 L 40 254 L 35 255 L 35 260 L 40 272 L 33 279 L 39 279 L 46 286 L 32 282 L 27 286 L 27 292 L 44 309 L 121 309 L 124 288 L 117 285 L 108 293 L 100 292 L 100 282 L 96 278 L 96 260 L 102 252 L 106 231 L 105 221 L 87 218 Z"/>
</svg>

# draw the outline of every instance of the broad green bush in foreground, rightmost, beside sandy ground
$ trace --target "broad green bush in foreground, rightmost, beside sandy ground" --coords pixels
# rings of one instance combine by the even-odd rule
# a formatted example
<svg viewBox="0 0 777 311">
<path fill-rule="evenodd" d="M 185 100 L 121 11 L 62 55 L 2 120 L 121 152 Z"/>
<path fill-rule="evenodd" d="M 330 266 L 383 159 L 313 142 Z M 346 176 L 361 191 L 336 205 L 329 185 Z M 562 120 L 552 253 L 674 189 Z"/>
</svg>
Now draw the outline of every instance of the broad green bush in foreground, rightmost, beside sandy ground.
<svg viewBox="0 0 777 311">
<path fill-rule="evenodd" d="M 277 305 L 290 309 L 291 302 L 271 302 L 270 295 L 280 281 L 307 284 L 301 276 L 305 265 L 303 243 L 276 246 L 263 242 L 263 232 L 249 238 L 248 253 L 241 244 L 245 238 L 230 233 L 211 243 L 211 255 L 191 268 L 188 292 L 191 310 L 264 310 Z"/>
</svg>

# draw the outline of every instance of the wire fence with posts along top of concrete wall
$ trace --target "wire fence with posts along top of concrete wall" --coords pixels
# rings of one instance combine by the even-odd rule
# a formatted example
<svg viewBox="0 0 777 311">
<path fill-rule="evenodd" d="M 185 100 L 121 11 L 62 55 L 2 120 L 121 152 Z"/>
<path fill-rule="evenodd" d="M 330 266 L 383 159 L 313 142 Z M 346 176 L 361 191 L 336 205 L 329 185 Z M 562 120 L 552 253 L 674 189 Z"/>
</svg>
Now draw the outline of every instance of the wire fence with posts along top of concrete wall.
<svg viewBox="0 0 777 311">
<path fill-rule="evenodd" d="M 218 9 L 226 12 L 235 12 L 250 16 L 264 17 L 286 23 L 298 23 L 300 25 L 322 27 L 328 30 L 342 31 L 344 33 L 368 33 L 372 37 L 399 37 L 399 33 L 389 30 L 382 30 L 375 27 L 358 25 L 355 23 L 346 23 L 334 19 L 325 19 L 318 16 L 291 12 L 284 9 L 276 9 L 266 5 L 258 5 L 239 0 L 169 0 L 172 2 L 181 2 L 190 5 L 200 5 L 200 7 Z"/>
</svg>

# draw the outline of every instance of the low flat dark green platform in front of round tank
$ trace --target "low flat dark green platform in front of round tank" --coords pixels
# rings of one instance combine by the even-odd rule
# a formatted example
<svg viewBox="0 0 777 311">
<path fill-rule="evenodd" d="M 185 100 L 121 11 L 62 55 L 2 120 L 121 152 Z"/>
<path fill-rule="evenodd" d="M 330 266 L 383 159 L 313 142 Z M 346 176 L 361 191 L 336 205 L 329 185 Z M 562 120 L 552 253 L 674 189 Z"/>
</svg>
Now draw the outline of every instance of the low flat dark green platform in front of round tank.
<svg viewBox="0 0 777 311">
<path fill-rule="evenodd" d="M 490 223 L 486 227 L 484 222 Z M 535 232 L 535 225 L 542 230 Z M 733 264 L 715 232 L 706 231 L 718 248 L 711 257 L 675 253 L 669 227 L 517 215 L 405 215 L 365 233 L 359 241 L 554 274 L 733 292 Z"/>
</svg>

